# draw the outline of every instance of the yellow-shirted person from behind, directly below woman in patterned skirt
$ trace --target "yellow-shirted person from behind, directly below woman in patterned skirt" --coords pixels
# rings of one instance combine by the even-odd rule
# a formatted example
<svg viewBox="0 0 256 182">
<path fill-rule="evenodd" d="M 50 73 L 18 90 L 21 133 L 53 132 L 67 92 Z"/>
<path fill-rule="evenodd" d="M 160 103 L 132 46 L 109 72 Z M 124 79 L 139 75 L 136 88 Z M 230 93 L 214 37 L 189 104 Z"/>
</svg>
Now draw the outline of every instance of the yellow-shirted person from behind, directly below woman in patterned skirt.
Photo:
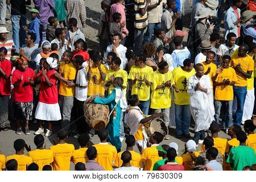
<svg viewBox="0 0 256 182">
<path fill-rule="evenodd" d="M 14 141 L 14 150 L 16 153 L 14 155 L 10 155 L 6 157 L 6 168 L 8 170 L 9 164 L 8 161 L 11 159 L 15 159 L 18 163 L 17 171 L 26 171 L 27 166 L 32 163 L 32 158 L 29 156 L 24 155 L 24 149 L 26 147 L 26 142 L 23 139 L 16 139 Z"/>
</svg>

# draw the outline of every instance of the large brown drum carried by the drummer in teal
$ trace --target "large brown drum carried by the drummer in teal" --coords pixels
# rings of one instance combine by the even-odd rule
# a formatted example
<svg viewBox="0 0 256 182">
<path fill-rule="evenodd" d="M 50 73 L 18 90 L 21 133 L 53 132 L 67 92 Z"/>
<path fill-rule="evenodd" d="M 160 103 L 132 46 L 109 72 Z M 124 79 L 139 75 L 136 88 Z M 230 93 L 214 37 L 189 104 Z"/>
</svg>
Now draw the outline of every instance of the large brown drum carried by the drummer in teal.
<svg viewBox="0 0 256 182">
<path fill-rule="evenodd" d="M 94 98 L 104 97 L 101 94 L 94 94 L 84 102 L 84 117 L 86 123 L 94 130 L 105 129 L 109 123 L 109 106 L 94 104 Z"/>
</svg>

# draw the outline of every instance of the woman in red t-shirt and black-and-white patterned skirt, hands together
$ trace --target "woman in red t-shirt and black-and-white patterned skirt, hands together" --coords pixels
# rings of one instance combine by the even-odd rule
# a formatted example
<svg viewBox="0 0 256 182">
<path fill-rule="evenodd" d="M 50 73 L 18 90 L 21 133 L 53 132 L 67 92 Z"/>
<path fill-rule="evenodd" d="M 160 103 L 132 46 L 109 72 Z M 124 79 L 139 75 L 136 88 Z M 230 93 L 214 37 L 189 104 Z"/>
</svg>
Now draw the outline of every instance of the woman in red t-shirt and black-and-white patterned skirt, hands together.
<svg viewBox="0 0 256 182">
<path fill-rule="evenodd" d="M 16 64 L 18 64 L 18 69 L 13 72 L 13 76 L 11 77 L 11 84 L 14 86 L 14 118 L 18 127 L 16 134 L 21 134 L 20 121 L 23 121 L 26 123 L 25 134 L 29 135 L 28 121 L 32 120 L 35 72 L 33 69 L 28 68 L 25 57 L 18 58 Z"/>
</svg>

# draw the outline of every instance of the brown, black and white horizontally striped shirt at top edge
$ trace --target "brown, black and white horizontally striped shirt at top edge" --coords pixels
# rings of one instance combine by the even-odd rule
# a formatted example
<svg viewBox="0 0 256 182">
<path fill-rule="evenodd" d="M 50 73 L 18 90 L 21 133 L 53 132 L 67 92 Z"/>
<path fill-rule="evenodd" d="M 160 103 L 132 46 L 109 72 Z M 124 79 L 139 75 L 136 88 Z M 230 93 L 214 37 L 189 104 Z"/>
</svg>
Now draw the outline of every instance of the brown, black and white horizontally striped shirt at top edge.
<svg viewBox="0 0 256 182">
<path fill-rule="evenodd" d="M 142 15 L 141 10 L 146 6 L 146 0 L 134 0 L 135 28 L 146 28 L 148 25 L 147 12 Z"/>
</svg>

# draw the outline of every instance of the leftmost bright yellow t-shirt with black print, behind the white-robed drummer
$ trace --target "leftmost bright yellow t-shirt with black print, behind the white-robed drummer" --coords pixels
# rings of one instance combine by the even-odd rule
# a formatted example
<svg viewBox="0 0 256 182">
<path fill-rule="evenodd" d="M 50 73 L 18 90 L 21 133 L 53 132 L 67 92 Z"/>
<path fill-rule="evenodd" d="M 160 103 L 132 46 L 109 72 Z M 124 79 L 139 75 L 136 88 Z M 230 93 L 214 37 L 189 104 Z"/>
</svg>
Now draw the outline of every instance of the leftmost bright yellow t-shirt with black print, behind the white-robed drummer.
<svg viewBox="0 0 256 182">
<path fill-rule="evenodd" d="M 139 78 L 133 85 L 131 94 L 137 94 L 140 101 L 148 101 L 150 99 L 150 86 L 148 86 L 143 79 L 145 76 L 148 81 L 152 82 L 154 73 L 153 69 L 148 66 L 139 68 L 134 65 L 131 67 L 128 79 L 134 80 L 137 73 L 139 73 Z"/>
</svg>

